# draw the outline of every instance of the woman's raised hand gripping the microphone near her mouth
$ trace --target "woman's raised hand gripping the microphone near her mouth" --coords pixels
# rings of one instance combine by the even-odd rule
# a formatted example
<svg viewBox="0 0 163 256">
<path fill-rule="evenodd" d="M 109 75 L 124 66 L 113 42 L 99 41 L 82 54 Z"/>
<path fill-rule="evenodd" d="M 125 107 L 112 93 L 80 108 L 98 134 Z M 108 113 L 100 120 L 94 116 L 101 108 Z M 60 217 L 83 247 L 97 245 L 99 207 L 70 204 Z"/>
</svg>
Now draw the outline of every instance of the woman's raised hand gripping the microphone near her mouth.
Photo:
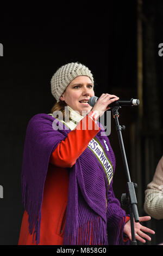
<svg viewBox="0 0 163 256">
<path fill-rule="evenodd" d="M 106 110 L 110 109 L 108 105 L 118 99 L 119 98 L 115 95 L 103 93 L 91 111 L 96 111 L 99 116 L 102 116 Z"/>
</svg>

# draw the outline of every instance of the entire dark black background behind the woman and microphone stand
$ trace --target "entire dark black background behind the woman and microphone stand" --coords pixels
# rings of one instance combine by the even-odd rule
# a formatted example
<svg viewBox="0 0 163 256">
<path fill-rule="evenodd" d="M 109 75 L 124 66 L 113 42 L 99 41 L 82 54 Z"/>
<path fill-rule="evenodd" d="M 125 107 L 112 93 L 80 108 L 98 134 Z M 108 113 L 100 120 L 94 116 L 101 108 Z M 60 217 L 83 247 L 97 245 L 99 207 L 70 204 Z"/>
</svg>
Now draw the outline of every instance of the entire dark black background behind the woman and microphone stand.
<svg viewBox="0 0 163 256">
<path fill-rule="evenodd" d="M 123 140 L 131 180 L 138 184 L 139 215 L 145 189 L 162 156 L 162 62 L 158 45 L 163 43 L 163 4 L 142 1 L 142 90 L 139 108 L 120 110 L 126 126 Z M 49 113 L 55 103 L 50 80 L 68 62 L 81 62 L 95 77 L 96 96 L 114 93 L 122 99 L 138 98 L 137 1 L 102 3 L 39 3 L 2 8 L 0 59 L 1 83 L 1 172 L 0 245 L 17 245 L 23 206 L 21 164 L 27 124 L 38 113 Z M 142 109 L 142 116 L 139 112 Z M 116 155 L 114 190 L 118 199 L 126 192 L 114 119 L 112 148 Z M 124 209 L 126 209 L 124 207 Z M 126 209 L 128 211 L 128 209 Z M 156 231 L 149 245 L 163 241 L 161 221 L 152 221 Z"/>
</svg>

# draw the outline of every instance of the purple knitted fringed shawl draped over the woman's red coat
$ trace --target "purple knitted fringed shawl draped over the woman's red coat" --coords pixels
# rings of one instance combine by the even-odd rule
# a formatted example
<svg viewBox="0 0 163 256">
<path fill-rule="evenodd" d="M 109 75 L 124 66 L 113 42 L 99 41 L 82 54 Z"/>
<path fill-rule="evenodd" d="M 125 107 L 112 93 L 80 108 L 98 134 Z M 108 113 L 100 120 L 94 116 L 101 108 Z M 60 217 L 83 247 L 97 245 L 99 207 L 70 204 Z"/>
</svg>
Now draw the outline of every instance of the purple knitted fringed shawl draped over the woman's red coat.
<svg viewBox="0 0 163 256">
<path fill-rule="evenodd" d="M 48 171 L 49 158 L 58 144 L 66 139 L 70 129 L 54 130 L 54 117 L 37 114 L 28 123 L 24 143 L 22 162 L 22 197 L 24 209 L 28 213 L 29 232 L 33 233 L 36 243 L 40 239 L 41 206 L 43 188 Z M 55 120 L 56 121 L 56 120 Z M 64 127 L 57 121 L 59 127 Z M 115 156 L 107 136 L 96 139 L 105 149 L 106 141 L 109 151 L 106 155 L 115 171 Z M 80 155 L 76 164 L 69 168 L 69 189 L 66 211 L 64 245 L 120 245 L 121 228 L 123 235 L 126 213 L 115 198 L 112 181 L 109 191 L 105 187 L 104 172 L 96 156 L 89 148 Z M 106 196 L 108 199 L 106 213 Z M 108 236 L 107 236 L 108 231 Z M 92 236 L 91 236 L 92 234 Z"/>
</svg>

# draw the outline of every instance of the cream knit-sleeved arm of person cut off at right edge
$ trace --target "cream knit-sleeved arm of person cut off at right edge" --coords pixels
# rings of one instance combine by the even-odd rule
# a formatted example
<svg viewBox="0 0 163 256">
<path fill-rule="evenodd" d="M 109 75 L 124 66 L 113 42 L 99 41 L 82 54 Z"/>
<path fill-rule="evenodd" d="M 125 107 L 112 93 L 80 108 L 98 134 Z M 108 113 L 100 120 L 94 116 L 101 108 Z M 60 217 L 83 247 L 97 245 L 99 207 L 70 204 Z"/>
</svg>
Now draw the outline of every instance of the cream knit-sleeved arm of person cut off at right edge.
<svg viewBox="0 0 163 256">
<path fill-rule="evenodd" d="M 163 156 L 156 167 L 152 182 L 147 185 L 144 209 L 151 217 L 163 219 Z"/>
</svg>

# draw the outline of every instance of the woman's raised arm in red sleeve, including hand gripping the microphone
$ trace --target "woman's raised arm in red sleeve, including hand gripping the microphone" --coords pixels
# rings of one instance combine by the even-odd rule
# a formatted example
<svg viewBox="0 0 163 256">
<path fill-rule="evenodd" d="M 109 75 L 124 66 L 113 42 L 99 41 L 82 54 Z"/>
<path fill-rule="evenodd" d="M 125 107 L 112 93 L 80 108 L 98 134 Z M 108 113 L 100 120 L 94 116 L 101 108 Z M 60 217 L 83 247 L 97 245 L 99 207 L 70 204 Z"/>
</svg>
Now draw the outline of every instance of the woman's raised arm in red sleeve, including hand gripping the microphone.
<svg viewBox="0 0 163 256">
<path fill-rule="evenodd" d="M 96 115 L 101 116 L 106 110 L 110 109 L 108 105 L 118 99 L 119 98 L 115 95 L 103 93 L 93 106 L 91 112 L 93 111 Z M 81 125 L 87 127 L 86 120 L 92 121 L 92 118 L 93 117 L 90 117 L 89 115 L 85 116 L 83 120 L 78 123 L 76 130 L 78 130 Z M 64 140 L 65 142 L 61 141 L 57 148 L 55 148 L 55 151 L 50 158 L 50 163 L 63 168 L 71 167 L 80 154 L 83 153 L 90 140 L 99 132 L 100 128 L 97 124 L 95 122 L 92 123 L 92 129 L 86 128 L 80 129 L 78 132 L 76 130 L 70 132 Z"/>
</svg>

